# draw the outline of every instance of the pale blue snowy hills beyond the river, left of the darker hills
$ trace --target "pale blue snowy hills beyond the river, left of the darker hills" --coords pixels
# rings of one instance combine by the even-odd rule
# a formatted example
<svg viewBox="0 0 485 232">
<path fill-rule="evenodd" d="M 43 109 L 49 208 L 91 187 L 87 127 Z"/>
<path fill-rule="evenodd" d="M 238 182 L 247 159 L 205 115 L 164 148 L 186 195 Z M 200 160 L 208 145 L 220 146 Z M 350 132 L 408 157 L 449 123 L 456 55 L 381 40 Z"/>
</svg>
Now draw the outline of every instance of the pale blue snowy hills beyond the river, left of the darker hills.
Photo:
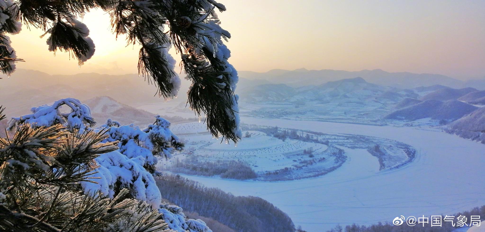
<svg viewBox="0 0 485 232">
<path fill-rule="evenodd" d="M 258 85 L 242 93 L 240 100 L 242 109 L 251 109 L 248 114 L 254 116 L 297 116 L 317 120 L 338 116 L 375 120 L 395 109 L 419 103 L 422 96 L 444 88 L 451 89 L 442 85 L 399 89 L 356 77 L 297 88 L 285 84 Z"/>
</svg>

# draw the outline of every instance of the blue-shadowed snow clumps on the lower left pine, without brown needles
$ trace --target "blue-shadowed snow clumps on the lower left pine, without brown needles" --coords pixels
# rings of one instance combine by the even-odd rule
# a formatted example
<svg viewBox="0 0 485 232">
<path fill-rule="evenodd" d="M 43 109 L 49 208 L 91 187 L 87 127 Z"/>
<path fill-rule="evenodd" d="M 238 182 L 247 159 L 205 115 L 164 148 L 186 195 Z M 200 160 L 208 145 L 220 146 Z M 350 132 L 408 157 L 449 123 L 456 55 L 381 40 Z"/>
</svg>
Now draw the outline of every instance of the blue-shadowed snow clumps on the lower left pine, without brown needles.
<svg viewBox="0 0 485 232">
<path fill-rule="evenodd" d="M 68 107 L 66 113 L 63 113 L 63 106 Z M 86 176 L 90 181 L 80 182 L 85 194 L 114 198 L 120 189 L 128 189 L 131 197 L 145 201 L 153 209 L 160 209 L 159 213 L 164 216 L 170 229 L 179 232 L 210 232 L 201 221 L 186 222 L 181 209 L 179 214 L 165 211 L 161 205 L 160 189 L 154 179 L 159 174 L 156 170 L 158 157 L 171 157 L 184 147 L 178 136 L 170 130 L 169 121 L 157 115 L 153 124 L 140 129 L 133 124 L 121 125 L 108 118 L 106 123 L 93 128 L 96 120 L 91 116 L 90 108 L 73 98 L 33 107 L 31 111 L 32 114 L 13 117 L 11 127 L 19 124 L 32 124 L 34 128 L 63 125 L 73 133 L 80 133 L 79 136 L 86 132 L 102 133 L 106 137 L 101 145 L 117 144 L 118 149 L 94 158 L 97 167 Z"/>
</svg>

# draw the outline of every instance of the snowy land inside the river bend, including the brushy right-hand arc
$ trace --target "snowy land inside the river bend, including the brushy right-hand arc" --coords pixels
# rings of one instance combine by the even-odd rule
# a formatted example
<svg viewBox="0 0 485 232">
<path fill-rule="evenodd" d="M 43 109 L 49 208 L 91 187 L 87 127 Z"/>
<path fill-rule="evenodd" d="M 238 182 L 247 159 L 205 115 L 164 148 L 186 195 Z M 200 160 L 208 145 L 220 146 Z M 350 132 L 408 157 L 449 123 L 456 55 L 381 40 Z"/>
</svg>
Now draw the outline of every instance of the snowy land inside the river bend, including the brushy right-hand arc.
<svg viewBox="0 0 485 232">
<path fill-rule="evenodd" d="M 207 132 L 205 123 L 175 124 L 171 129 L 185 142 L 186 149 L 169 160 L 161 159 L 158 167 L 161 170 L 195 174 L 197 168 L 194 169 L 194 166 L 204 166 L 204 162 L 221 164 L 241 161 L 258 173 L 258 178 L 253 180 L 286 181 L 321 176 L 339 168 L 345 162 L 346 155 L 338 146 L 369 149 L 372 155 L 379 157 L 380 170 L 399 168 L 411 162 L 416 153 L 407 144 L 372 136 L 316 133 L 290 128 L 284 131 L 288 134 L 291 131 L 293 137 L 283 141 L 266 134 L 275 128 L 270 130 L 254 125 L 245 125 L 244 128 L 248 130 L 245 132 L 249 137 L 243 136 L 237 146 L 231 146 L 232 142 L 227 145 L 221 138 L 213 138 Z M 197 175 L 218 174 L 198 172 Z"/>
</svg>

